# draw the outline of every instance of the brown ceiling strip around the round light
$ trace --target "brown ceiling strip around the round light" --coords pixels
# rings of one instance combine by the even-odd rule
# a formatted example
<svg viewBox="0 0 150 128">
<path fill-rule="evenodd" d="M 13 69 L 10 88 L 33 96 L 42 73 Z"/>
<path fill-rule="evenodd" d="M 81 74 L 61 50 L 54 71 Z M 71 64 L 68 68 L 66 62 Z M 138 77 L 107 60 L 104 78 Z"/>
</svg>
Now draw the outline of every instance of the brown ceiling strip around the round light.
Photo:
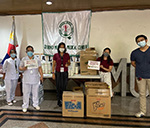
<svg viewBox="0 0 150 128">
<path fill-rule="evenodd" d="M 0 15 L 40 14 L 77 10 L 150 9 L 150 0 L 0 0 Z"/>
</svg>

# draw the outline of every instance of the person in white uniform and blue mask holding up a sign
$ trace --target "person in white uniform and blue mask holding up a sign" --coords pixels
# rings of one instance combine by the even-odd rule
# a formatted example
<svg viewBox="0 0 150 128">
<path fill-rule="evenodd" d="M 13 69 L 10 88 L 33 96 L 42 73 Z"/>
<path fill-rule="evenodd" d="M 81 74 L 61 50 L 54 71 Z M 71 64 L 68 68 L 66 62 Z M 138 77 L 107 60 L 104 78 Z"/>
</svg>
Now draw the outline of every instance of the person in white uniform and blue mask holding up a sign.
<svg viewBox="0 0 150 128">
<path fill-rule="evenodd" d="M 23 71 L 23 105 L 22 111 L 27 112 L 30 94 L 32 95 L 33 107 L 40 110 L 38 91 L 40 82 L 43 82 L 41 61 L 34 57 L 34 48 L 26 47 L 27 56 L 22 58 L 19 69 Z"/>
</svg>

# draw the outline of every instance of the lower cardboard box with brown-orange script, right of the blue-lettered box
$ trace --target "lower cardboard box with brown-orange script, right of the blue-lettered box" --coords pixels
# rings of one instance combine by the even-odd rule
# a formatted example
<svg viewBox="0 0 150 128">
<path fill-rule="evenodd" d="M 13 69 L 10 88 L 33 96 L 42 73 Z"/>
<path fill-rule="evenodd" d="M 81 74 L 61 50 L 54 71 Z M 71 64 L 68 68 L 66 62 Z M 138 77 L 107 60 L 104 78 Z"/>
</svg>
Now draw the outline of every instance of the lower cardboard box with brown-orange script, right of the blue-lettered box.
<svg viewBox="0 0 150 128">
<path fill-rule="evenodd" d="M 110 96 L 87 95 L 86 115 L 87 117 L 111 118 Z"/>
</svg>

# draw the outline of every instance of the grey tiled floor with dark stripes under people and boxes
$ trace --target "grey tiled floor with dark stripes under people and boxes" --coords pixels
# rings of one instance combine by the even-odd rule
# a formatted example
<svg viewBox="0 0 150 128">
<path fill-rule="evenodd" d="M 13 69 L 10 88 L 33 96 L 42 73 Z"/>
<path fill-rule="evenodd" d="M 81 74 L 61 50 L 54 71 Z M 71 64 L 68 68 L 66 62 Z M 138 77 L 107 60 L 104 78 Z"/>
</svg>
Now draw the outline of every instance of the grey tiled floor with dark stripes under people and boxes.
<svg viewBox="0 0 150 128">
<path fill-rule="evenodd" d="M 13 106 L 0 99 L 1 128 L 150 128 L 150 97 L 147 98 L 147 117 L 140 119 L 134 117 L 139 111 L 139 99 L 133 96 L 116 95 L 112 99 L 111 119 L 64 118 L 61 108 L 56 105 L 55 92 L 45 92 L 39 112 L 30 106 L 29 112 L 22 113 L 22 97 L 16 99 L 17 103 Z"/>
</svg>

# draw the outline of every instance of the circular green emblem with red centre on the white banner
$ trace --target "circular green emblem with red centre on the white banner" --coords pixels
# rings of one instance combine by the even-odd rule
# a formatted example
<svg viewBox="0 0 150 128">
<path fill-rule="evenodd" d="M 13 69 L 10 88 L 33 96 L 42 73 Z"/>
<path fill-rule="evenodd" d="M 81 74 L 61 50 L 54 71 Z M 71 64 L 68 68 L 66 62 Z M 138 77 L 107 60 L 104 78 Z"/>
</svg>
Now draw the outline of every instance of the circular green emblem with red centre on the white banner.
<svg viewBox="0 0 150 128">
<path fill-rule="evenodd" d="M 64 38 L 71 39 L 74 32 L 74 26 L 70 21 L 61 22 L 59 25 L 59 34 Z"/>
</svg>

